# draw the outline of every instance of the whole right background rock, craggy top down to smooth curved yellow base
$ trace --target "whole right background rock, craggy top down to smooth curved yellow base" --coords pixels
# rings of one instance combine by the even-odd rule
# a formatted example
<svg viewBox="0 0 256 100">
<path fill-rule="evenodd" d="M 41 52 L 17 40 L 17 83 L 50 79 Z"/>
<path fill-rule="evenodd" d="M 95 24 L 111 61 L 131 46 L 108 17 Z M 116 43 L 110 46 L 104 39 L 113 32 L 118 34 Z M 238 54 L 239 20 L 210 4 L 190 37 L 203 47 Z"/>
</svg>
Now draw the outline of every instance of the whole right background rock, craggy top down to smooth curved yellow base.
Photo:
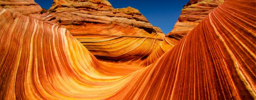
<svg viewBox="0 0 256 100">
<path fill-rule="evenodd" d="M 164 41 L 161 42 L 157 49 L 141 65 L 148 66 L 152 64 L 165 52 L 172 49 L 189 31 L 196 27 L 205 16 L 222 2 L 224 0 L 190 0 L 182 9 L 182 14 L 173 30 L 165 36 Z"/>
</svg>

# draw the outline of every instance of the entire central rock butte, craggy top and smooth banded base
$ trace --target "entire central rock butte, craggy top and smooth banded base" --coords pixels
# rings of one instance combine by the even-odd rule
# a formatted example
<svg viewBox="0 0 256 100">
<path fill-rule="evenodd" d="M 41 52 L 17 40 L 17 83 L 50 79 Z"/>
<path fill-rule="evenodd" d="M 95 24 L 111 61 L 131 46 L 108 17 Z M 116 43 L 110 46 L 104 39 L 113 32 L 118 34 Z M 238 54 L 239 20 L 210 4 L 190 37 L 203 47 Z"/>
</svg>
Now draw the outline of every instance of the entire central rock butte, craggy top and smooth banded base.
<svg viewBox="0 0 256 100">
<path fill-rule="evenodd" d="M 107 0 L 54 0 L 41 20 L 69 30 L 98 59 L 141 62 L 164 34 L 135 8 L 113 8 Z"/>
</svg>

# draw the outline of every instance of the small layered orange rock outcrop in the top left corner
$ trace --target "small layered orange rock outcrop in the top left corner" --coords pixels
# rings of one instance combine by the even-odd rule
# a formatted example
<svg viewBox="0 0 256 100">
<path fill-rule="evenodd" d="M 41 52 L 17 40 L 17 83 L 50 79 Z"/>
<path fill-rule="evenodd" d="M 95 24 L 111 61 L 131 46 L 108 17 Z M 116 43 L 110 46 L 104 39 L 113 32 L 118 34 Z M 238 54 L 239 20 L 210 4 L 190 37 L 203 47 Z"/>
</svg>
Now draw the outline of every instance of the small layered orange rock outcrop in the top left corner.
<svg viewBox="0 0 256 100">
<path fill-rule="evenodd" d="M 42 11 L 34 0 L 0 0 L 0 8 L 20 12 L 26 16 L 38 16 Z"/>
</svg>

